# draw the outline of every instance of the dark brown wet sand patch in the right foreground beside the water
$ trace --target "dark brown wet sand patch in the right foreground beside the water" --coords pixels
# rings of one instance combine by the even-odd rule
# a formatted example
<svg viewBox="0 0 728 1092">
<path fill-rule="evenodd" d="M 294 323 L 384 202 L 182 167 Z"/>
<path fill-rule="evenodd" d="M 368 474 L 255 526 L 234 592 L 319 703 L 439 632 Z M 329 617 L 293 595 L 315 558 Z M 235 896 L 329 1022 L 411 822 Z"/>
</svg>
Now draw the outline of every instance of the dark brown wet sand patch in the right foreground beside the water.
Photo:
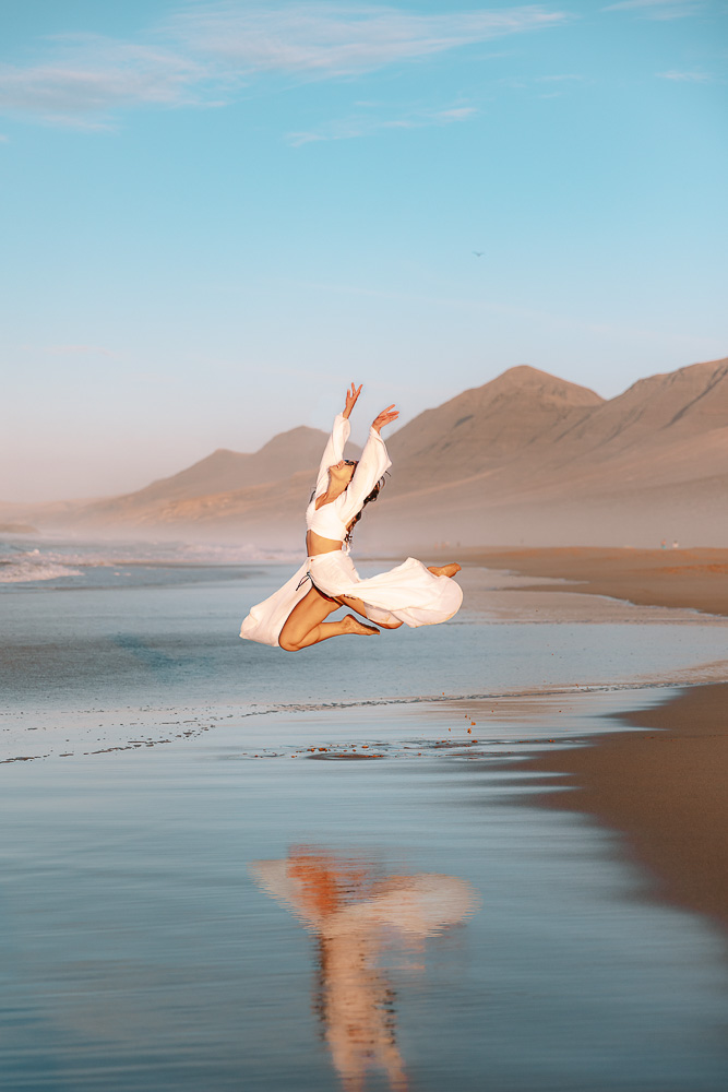
<svg viewBox="0 0 728 1092">
<path fill-rule="evenodd" d="M 728 929 L 728 682 L 687 688 L 619 720 L 643 731 L 527 761 L 549 790 L 568 790 L 544 793 L 539 804 L 616 829 L 652 877 L 652 895 Z"/>
</svg>

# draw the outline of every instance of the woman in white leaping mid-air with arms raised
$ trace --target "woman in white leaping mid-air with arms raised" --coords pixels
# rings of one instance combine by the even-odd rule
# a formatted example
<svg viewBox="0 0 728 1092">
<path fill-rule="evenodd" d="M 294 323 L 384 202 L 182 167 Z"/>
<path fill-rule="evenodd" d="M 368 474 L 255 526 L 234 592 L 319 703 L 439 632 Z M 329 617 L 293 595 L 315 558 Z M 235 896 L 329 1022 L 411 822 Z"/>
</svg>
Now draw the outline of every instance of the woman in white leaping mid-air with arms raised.
<svg viewBox="0 0 728 1092">
<path fill-rule="evenodd" d="M 460 565 L 426 568 L 408 557 L 402 565 L 362 579 L 349 557 L 351 532 L 366 505 L 377 500 L 383 475 L 392 465 L 380 430 L 399 416 L 387 406 L 372 422 L 369 439 L 357 462 L 344 459 L 351 426 L 349 416 L 361 387 L 351 383 L 344 411 L 321 460 L 315 488 L 306 510 L 308 557 L 289 581 L 263 603 L 251 607 L 240 629 L 249 641 L 300 652 L 331 637 L 375 637 L 379 629 L 435 626 L 460 610 L 463 590 L 452 579 Z M 326 621 L 339 607 L 355 610 L 338 621 Z"/>
</svg>

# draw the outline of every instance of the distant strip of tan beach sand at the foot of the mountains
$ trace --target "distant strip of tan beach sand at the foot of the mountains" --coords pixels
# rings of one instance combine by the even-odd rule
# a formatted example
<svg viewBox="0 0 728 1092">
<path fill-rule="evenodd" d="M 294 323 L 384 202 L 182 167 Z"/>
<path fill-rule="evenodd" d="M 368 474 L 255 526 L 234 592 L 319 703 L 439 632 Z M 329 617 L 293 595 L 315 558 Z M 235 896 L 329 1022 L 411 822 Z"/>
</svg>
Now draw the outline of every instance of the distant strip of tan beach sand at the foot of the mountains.
<svg viewBox="0 0 728 1092">
<path fill-rule="evenodd" d="M 574 581 L 561 589 L 564 592 L 728 615 L 728 549 L 484 546 L 447 547 L 444 553 L 457 555 L 457 560 L 467 566 Z M 537 581 L 530 590 L 540 590 Z"/>
</svg>

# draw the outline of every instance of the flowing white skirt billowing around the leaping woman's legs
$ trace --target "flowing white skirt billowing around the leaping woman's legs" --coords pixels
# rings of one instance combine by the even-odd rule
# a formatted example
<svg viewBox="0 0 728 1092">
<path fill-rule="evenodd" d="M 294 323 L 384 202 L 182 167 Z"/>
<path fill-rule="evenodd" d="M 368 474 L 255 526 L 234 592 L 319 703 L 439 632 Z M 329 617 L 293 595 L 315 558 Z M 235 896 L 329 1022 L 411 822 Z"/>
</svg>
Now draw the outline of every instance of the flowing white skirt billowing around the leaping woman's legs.
<svg viewBox="0 0 728 1092">
<path fill-rule="evenodd" d="M 240 637 L 277 645 L 290 612 L 311 590 L 311 583 L 332 598 L 350 595 L 362 600 L 367 617 L 379 625 L 437 626 L 457 614 L 463 602 L 463 589 L 456 581 L 433 575 L 414 557 L 387 572 L 362 578 L 348 554 L 332 550 L 307 558 L 283 587 L 251 607 Z"/>
</svg>

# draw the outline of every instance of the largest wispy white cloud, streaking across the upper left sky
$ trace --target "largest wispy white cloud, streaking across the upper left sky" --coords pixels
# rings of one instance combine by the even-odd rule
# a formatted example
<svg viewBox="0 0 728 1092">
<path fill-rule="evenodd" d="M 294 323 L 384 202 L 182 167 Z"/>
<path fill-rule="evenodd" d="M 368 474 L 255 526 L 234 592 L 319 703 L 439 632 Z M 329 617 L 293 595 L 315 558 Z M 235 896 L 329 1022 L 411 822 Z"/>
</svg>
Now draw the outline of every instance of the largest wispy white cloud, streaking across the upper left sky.
<svg viewBox="0 0 728 1092">
<path fill-rule="evenodd" d="M 121 109 L 220 106 L 265 75 L 354 78 L 566 20 L 541 4 L 417 14 L 356 2 L 203 3 L 133 41 L 45 39 L 34 63 L 0 66 L 0 110 L 105 129 Z"/>
</svg>

